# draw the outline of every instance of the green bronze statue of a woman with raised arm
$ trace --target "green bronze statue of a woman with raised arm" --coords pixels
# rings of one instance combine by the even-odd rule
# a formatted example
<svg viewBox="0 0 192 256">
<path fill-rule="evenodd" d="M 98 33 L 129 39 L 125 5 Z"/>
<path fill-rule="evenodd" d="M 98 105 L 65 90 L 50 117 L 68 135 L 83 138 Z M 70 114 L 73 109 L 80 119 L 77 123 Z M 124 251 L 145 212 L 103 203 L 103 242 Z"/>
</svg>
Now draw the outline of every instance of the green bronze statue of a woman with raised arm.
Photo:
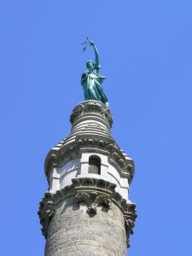
<svg viewBox="0 0 192 256">
<path fill-rule="evenodd" d="M 105 104 L 106 107 L 108 107 L 108 98 L 107 96 L 105 96 L 101 86 L 103 80 L 106 78 L 99 74 L 99 54 L 96 49 L 96 45 L 93 43 L 93 41 L 90 41 L 89 38 L 87 38 L 87 41 L 84 41 L 83 44 L 85 44 L 86 46 L 92 46 L 96 55 L 95 62 L 86 62 L 86 67 L 88 68 L 88 70 L 85 71 L 85 73 L 83 73 L 81 77 L 81 84 L 84 89 L 84 100 L 95 100 L 98 102 L 102 102 L 103 104 Z M 86 49 L 86 46 L 84 47 L 83 51 Z"/>
</svg>

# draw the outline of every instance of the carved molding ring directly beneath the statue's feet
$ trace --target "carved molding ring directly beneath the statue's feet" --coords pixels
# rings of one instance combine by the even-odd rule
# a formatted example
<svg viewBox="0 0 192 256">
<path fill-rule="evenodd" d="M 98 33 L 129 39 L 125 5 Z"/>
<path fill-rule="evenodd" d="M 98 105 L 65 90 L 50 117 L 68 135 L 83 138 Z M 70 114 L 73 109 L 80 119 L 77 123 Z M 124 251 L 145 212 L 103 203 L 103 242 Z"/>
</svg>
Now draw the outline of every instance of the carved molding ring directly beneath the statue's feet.
<svg viewBox="0 0 192 256">
<path fill-rule="evenodd" d="M 108 122 L 108 125 L 112 127 L 113 125 L 113 118 L 110 113 L 109 108 L 107 108 L 105 105 L 103 105 L 101 102 L 96 101 L 85 101 L 80 103 L 78 106 L 76 106 L 73 109 L 73 112 L 70 116 L 70 122 L 73 125 L 73 123 L 84 114 L 87 113 L 94 113 L 102 116 L 102 118 L 106 119 Z"/>
</svg>

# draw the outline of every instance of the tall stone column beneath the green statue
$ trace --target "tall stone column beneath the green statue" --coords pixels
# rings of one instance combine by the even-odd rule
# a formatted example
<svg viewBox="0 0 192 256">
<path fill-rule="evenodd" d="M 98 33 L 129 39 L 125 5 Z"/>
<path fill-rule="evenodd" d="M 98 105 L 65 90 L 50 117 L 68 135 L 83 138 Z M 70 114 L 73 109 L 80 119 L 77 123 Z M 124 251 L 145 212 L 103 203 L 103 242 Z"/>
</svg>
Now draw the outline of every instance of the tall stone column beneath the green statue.
<svg viewBox="0 0 192 256">
<path fill-rule="evenodd" d="M 128 199 L 133 160 L 111 136 L 113 119 L 101 102 L 81 102 L 70 121 L 70 135 L 45 160 L 44 255 L 127 255 L 137 218 Z"/>
</svg>

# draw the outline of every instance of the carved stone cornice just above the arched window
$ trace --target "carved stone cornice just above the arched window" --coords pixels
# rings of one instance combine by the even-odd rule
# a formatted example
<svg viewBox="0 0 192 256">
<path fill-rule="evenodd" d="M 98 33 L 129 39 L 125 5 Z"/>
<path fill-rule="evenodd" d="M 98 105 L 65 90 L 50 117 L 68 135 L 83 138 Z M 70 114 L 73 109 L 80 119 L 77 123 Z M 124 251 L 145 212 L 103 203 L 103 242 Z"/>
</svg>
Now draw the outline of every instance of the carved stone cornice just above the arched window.
<svg viewBox="0 0 192 256">
<path fill-rule="evenodd" d="M 107 154 L 108 162 L 112 164 L 121 177 L 127 177 L 129 183 L 134 176 L 134 163 L 128 155 L 122 152 L 113 139 L 86 138 L 77 136 L 75 141 L 60 150 L 50 150 L 44 163 L 44 170 L 49 182 L 50 172 L 54 167 L 61 167 L 68 161 L 79 158 L 82 151 Z"/>
</svg>

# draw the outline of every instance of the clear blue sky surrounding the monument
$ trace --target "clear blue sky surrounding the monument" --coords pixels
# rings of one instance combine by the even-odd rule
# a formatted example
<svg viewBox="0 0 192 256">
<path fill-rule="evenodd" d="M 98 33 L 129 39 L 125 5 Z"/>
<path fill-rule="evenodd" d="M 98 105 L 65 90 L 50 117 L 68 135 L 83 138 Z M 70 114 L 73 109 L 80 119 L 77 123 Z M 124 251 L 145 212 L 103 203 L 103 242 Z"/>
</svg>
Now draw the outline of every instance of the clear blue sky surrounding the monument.
<svg viewBox="0 0 192 256">
<path fill-rule="evenodd" d="M 44 158 L 84 100 L 87 35 L 108 77 L 112 135 L 136 164 L 129 256 L 192 255 L 191 31 L 189 0 L 1 1 L 1 255 L 44 255 Z"/>
</svg>

